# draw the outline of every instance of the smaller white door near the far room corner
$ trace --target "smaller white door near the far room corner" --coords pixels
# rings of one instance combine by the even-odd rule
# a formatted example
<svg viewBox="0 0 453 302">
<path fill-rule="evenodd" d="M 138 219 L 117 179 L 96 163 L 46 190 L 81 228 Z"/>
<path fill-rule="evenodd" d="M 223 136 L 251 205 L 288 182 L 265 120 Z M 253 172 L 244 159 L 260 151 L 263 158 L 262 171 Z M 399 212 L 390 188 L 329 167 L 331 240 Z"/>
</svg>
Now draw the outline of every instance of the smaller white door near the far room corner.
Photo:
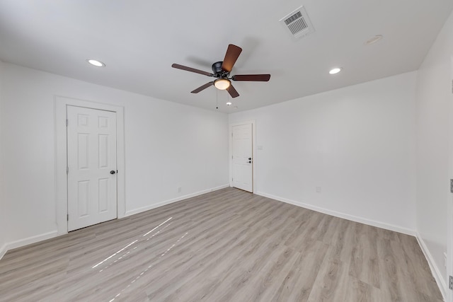
<svg viewBox="0 0 453 302">
<path fill-rule="evenodd" d="M 233 151 L 233 187 L 253 192 L 252 124 L 231 127 Z"/>
</svg>

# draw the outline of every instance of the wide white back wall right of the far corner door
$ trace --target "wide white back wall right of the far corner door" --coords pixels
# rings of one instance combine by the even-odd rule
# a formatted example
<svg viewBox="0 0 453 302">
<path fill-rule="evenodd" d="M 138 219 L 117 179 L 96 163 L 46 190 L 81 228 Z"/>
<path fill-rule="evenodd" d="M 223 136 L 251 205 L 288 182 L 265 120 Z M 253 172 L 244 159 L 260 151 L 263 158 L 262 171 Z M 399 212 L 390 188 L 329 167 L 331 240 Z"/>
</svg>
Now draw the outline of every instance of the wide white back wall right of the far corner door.
<svg viewBox="0 0 453 302">
<path fill-rule="evenodd" d="M 415 75 L 230 115 L 256 120 L 257 193 L 415 233 Z"/>
</svg>

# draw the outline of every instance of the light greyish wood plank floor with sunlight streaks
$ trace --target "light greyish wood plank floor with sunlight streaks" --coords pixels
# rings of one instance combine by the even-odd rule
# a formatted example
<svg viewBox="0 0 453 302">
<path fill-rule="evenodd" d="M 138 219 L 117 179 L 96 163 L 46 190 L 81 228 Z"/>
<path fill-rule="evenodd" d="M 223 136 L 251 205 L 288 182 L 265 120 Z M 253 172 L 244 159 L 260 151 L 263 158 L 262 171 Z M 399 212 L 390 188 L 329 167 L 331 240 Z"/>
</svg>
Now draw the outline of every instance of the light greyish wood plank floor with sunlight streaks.
<svg viewBox="0 0 453 302">
<path fill-rule="evenodd" d="M 442 301 L 412 236 L 226 188 L 11 250 L 0 301 Z"/>
</svg>

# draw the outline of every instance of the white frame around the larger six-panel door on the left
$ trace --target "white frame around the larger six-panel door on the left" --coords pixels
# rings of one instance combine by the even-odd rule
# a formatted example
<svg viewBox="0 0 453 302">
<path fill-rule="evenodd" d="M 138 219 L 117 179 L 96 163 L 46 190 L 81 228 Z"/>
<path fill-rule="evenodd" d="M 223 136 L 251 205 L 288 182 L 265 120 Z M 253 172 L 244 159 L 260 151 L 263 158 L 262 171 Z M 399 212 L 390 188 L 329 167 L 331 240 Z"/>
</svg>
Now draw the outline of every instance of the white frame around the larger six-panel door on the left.
<svg viewBox="0 0 453 302">
<path fill-rule="evenodd" d="M 115 105 L 77 100 L 55 95 L 55 194 L 57 234 L 68 232 L 68 188 L 67 188 L 67 106 L 107 110 L 117 113 L 117 218 L 125 216 L 125 118 L 124 108 Z"/>
</svg>

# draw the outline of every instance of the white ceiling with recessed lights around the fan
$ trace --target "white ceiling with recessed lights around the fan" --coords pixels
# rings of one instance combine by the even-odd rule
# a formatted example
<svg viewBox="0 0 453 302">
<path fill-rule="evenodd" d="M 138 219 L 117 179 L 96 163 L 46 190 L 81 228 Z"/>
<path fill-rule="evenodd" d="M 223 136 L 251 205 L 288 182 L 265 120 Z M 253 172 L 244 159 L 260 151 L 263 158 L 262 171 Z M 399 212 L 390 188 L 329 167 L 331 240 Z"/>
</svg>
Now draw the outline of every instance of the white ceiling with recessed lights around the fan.
<svg viewBox="0 0 453 302">
<path fill-rule="evenodd" d="M 302 5 L 315 32 L 294 40 L 279 21 Z M 452 0 L 1 0 L 0 59 L 210 110 L 218 98 L 220 111 L 236 112 L 416 70 L 452 9 Z M 374 35 L 384 39 L 364 45 Z M 226 91 L 190 93 L 212 78 L 171 68 L 211 72 L 230 43 L 243 49 L 231 74 L 271 74 L 233 82 L 230 107 Z M 333 66 L 343 71 L 331 76 Z"/>
</svg>

